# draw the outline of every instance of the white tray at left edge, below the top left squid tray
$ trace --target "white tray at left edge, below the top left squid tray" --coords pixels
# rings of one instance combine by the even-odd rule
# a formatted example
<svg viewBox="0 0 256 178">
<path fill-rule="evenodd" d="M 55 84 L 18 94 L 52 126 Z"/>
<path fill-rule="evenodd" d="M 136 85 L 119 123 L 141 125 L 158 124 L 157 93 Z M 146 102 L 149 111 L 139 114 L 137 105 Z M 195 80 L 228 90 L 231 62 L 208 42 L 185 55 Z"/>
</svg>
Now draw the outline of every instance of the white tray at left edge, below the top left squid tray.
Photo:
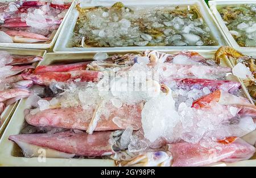
<svg viewBox="0 0 256 178">
<path fill-rule="evenodd" d="M 36 50 L 36 49 L 14 49 L 14 48 L 0 48 L 0 51 L 7 51 L 12 55 L 36 55 L 36 56 L 43 56 L 46 51 L 44 50 Z M 0 115 L 2 123 L 0 124 L 0 137 L 2 135 L 3 130 L 5 130 L 5 127 L 7 123 L 9 122 L 11 115 L 13 114 L 16 106 L 18 105 L 18 102 L 15 102 L 13 105 L 9 105 L 5 108 L 5 110 Z"/>
</svg>

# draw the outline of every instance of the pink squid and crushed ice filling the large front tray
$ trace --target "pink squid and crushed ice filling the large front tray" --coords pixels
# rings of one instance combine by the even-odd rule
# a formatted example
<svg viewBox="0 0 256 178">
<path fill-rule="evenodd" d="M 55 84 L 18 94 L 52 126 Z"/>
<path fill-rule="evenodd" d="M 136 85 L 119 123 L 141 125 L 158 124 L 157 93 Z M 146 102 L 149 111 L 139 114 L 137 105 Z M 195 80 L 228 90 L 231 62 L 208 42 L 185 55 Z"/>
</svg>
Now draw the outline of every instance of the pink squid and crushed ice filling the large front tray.
<svg viewBox="0 0 256 178">
<path fill-rule="evenodd" d="M 241 137 L 256 128 L 256 106 L 232 68 L 220 65 L 230 55 L 223 49 L 212 59 L 146 50 L 39 65 L 19 76 L 34 88 L 23 128 L 9 140 L 26 158 L 44 149 L 47 158 L 112 159 L 117 166 L 250 159 L 255 147 Z"/>
</svg>

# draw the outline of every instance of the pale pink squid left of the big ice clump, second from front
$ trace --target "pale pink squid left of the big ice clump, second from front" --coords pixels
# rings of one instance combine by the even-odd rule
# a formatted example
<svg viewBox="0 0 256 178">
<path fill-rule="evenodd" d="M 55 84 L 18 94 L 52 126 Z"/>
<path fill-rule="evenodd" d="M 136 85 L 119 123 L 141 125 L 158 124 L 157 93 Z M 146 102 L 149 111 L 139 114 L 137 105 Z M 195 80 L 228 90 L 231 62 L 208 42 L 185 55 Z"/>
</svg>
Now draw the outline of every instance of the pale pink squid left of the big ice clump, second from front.
<svg viewBox="0 0 256 178">
<path fill-rule="evenodd" d="M 37 113 L 25 112 L 27 123 L 32 126 L 52 126 L 65 129 L 106 131 L 121 130 L 131 126 L 134 130 L 141 128 L 142 104 L 122 105 L 117 108 L 109 102 L 103 106 L 110 111 L 109 115 L 102 113 L 101 107 L 67 107 L 38 111 Z"/>
</svg>

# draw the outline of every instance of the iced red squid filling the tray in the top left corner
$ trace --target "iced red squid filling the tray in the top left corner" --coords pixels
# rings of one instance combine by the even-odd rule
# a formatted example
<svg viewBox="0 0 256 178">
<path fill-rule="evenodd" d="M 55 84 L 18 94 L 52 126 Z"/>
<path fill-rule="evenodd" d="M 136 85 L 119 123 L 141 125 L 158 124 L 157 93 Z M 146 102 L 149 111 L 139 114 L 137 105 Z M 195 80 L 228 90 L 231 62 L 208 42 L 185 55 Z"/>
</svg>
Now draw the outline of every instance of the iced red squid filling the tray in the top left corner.
<svg viewBox="0 0 256 178">
<path fill-rule="evenodd" d="M 14 1 L 0 4 L 0 43 L 48 43 L 71 4 Z"/>
</svg>

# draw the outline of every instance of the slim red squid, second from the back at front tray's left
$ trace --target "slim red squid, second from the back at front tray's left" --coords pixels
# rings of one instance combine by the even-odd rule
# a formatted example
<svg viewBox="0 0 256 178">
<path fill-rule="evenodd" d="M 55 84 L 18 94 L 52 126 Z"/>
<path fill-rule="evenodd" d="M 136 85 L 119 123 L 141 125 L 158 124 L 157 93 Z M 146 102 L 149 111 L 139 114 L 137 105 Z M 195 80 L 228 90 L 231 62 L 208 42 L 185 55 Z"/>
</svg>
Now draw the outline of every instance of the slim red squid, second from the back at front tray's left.
<svg viewBox="0 0 256 178">
<path fill-rule="evenodd" d="M 49 86 L 52 82 L 93 81 L 97 82 L 103 76 L 98 71 L 69 71 L 46 73 L 22 73 L 23 80 L 32 80 L 34 84 Z"/>
</svg>

